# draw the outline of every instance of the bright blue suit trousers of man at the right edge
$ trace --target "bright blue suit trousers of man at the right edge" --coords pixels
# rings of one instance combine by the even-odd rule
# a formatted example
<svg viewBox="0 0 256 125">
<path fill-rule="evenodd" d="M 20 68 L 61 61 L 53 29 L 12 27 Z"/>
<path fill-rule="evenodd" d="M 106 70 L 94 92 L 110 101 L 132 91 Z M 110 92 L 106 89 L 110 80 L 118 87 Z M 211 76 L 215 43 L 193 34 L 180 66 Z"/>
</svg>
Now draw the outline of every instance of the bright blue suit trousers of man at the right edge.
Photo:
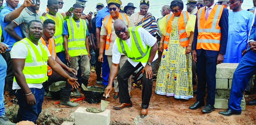
<svg viewBox="0 0 256 125">
<path fill-rule="evenodd" d="M 250 46 L 248 47 L 250 48 Z M 228 108 L 233 112 L 241 112 L 241 99 L 248 81 L 256 72 L 256 52 L 247 50 L 237 66 L 232 80 Z M 208 86 L 208 85 L 207 85 Z"/>
</svg>

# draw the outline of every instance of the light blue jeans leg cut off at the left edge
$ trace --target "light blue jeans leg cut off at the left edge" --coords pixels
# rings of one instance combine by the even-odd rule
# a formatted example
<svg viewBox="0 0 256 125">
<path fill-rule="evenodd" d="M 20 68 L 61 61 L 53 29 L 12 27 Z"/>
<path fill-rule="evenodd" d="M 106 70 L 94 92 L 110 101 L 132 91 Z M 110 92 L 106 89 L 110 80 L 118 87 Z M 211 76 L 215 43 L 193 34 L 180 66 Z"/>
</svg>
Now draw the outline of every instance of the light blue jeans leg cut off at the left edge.
<svg viewBox="0 0 256 125">
<path fill-rule="evenodd" d="M 6 77 L 7 64 L 0 54 L 0 116 L 5 115 L 5 106 L 4 106 L 4 86 L 5 86 L 5 77 Z"/>
</svg>

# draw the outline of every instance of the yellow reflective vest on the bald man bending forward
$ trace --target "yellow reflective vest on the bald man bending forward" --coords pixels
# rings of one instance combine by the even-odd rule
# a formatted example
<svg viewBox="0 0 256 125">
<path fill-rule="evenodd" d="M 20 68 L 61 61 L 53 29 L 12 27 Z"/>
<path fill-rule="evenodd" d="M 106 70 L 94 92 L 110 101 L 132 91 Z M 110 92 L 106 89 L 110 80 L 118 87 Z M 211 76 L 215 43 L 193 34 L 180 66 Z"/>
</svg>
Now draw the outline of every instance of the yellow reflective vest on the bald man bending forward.
<svg viewBox="0 0 256 125">
<path fill-rule="evenodd" d="M 130 37 L 131 37 L 131 50 L 126 42 L 120 38 L 117 38 L 117 47 L 120 53 L 123 53 L 128 58 L 132 59 L 135 62 L 142 62 L 145 63 L 148 61 L 149 52 L 151 47 L 146 45 L 144 48 L 139 36 L 138 28 L 141 26 L 136 27 L 129 27 Z"/>
</svg>

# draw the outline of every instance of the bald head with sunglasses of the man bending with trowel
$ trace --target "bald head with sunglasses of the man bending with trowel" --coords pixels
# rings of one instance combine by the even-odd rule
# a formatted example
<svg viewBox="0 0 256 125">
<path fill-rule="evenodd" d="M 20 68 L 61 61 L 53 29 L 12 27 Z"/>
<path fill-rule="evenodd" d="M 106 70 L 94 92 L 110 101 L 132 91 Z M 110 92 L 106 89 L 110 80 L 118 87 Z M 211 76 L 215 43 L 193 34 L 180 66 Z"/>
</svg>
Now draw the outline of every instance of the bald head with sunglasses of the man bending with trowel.
<svg viewBox="0 0 256 125">
<path fill-rule="evenodd" d="M 130 32 L 129 32 L 128 26 L 124 23 L 123 20 L 117 19 L 114 22 L 114 29 L 118 38 L 122 40 L 127 40 L 130 38 Z"/>
</svg>

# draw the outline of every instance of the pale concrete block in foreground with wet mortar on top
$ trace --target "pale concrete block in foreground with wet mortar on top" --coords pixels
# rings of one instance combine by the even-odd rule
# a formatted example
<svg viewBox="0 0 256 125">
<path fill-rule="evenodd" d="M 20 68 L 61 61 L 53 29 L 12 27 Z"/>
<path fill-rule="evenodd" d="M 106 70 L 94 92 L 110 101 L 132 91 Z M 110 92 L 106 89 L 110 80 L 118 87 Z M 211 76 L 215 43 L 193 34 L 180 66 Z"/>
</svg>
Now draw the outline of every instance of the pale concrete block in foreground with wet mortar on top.
<svg viewBox="0 0 256 125">
<path fill-rule="evenodd" d="M 106 109 L 102 113 L 90 113 L 87 108 L 79 107 L 74 112 L 76 125 L 109 125 L 110 110 Z"/>
</svg>

